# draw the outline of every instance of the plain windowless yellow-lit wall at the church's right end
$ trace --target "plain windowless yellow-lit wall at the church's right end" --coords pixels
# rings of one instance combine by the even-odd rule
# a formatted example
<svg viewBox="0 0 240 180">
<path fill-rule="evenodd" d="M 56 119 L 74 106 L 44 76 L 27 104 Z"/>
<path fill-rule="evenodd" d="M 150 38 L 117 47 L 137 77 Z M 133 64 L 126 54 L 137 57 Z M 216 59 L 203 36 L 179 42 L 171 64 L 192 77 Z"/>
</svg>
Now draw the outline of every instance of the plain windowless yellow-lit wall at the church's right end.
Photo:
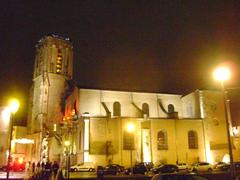
<svg viewBox="0 0 240 180">
<path fill-rule="evenodd" d="M 222 161 L 228 153 L 224 101 L 221 91 L 203 91 L 204 128 L 209 161 Z M 217 135 L 216 133 L 219 132 Z"/>
</svg>

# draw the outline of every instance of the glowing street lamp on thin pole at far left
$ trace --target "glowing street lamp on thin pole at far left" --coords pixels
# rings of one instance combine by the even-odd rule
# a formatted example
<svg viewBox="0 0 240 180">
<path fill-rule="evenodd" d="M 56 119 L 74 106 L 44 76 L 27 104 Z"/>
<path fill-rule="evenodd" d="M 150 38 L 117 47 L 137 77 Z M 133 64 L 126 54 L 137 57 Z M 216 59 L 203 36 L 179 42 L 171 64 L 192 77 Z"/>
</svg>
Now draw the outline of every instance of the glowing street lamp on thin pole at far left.
<svg viewBox="0 0 240 180">
<path fill-rule="evenodd" d="M 13 130 L 13 116 L 18 111 L 20 103 L 17 99 L 11 99 L 8 104 L 8 108 L 10 110 L 10 138 L 9 138 L 9 149 L 8 149 L 8 163 L 7 163 L 7 179 L 9 179 L 9 169 L 10 169 L 10 160 L 11 160 L 11 145 L 12 145 L 12 130 Z"/>
</svg>

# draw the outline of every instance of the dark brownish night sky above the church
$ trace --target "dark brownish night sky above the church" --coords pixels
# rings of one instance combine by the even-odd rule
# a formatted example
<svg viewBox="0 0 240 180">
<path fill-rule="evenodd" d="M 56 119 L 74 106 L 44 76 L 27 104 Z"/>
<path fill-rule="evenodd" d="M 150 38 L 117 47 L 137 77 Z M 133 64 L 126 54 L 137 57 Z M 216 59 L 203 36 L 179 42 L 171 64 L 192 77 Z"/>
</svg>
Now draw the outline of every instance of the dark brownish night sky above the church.
<svg viewBox="0 0 240 180">
<path fill-rule="evenodd" d="M 74 80 L 83 88 L 178 94 L 216 89 L 212 70 L 221 63 L 233 70 L 227 86 L 240 85 L 238 1 L 9 0 L 0 7 L 1 104 L 17 96 L 22 114 L 35 44 L 48 34 L 72 40 Z"/>
</svg>

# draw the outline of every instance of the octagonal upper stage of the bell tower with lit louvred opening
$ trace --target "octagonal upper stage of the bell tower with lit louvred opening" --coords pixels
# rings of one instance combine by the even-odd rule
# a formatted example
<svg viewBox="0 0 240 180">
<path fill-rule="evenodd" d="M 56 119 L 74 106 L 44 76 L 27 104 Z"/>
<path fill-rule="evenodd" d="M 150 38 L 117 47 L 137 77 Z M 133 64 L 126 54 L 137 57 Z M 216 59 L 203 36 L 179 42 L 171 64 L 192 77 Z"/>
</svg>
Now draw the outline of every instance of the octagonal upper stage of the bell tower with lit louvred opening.
<svg viewBox="0 0 240 180">
<path fill-rule="evenodd" d="M 72 78 L 73 45 L 69 38 L 47 35 L 36 44 L 33 78 L 52 73 Z"/>
</svg>

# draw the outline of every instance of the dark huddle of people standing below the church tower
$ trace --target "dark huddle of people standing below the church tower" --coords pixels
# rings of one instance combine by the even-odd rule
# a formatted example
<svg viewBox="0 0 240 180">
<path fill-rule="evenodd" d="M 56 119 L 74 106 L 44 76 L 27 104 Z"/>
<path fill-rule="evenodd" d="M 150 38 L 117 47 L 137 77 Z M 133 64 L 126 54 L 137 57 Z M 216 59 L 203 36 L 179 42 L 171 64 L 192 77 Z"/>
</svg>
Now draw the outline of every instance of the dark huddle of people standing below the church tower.
<svg viewBox="0 0 240 180">
<path fill-rule="evenodd" d="M 33 162 L 31 166 L 32 166 L 33 179 L 51 179 L 52 175 L 54 176 L 54 179 L 55 179 L 59 169 L 59 164 L 57 163 L 57 161 L 54 161 L 53 163 L 50 161 L 47 161 L 46 163 Z M 29 163 L 29 170 L 30 170 L 30 163 Z"/>
</svg>

